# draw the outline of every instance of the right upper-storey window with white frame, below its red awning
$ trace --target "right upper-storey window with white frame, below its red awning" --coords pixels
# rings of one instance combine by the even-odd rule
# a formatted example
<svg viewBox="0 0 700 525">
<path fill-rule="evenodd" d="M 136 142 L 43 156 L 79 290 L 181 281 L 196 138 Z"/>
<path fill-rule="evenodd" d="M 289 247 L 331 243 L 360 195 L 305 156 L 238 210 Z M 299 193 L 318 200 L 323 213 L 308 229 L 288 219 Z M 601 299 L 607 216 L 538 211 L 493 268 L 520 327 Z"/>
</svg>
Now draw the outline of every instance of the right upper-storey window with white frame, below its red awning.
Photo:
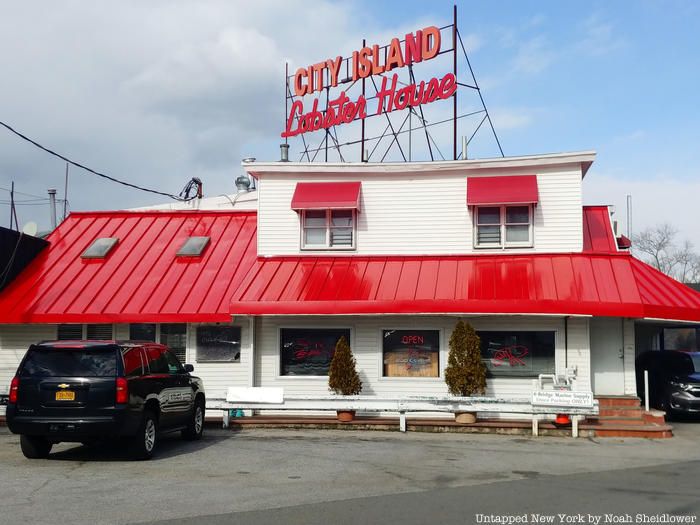
<svg viewBox="0 0 700 525">
<path fill-rule="evenodd" d="M 532 206 L 478 206 L 474 214 L 477 248 L 532 246 Z"/>
</svg>

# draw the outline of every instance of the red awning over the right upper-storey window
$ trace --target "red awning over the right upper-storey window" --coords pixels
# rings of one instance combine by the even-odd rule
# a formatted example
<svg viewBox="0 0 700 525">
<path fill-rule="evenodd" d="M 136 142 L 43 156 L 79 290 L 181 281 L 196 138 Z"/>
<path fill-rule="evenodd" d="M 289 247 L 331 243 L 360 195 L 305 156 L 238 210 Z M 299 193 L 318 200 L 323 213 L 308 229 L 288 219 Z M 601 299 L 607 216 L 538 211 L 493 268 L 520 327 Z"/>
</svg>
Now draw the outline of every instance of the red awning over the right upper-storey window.
<svg viewBox="0 0 700 525">
<path fill-rule="evenodd" d="M 469 177 L 467 205 L 535 204 L 537 175 L 508 175 L 503 177 Z"/>
</svg>

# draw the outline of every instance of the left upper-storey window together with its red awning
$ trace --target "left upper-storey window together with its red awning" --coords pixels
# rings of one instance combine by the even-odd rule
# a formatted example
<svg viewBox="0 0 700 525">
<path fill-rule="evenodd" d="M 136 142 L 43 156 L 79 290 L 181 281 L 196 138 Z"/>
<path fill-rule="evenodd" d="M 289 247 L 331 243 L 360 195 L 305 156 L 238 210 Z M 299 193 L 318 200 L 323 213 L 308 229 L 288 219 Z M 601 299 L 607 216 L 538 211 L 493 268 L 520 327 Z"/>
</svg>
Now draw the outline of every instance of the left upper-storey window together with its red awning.
<svg viewBox="0 0 700 525">
<path fill-rule="evenodd" d="M 354 250 L 359 182 L 299 182 L 292 209 L 299 213 L 302 250 Z"/>
</svg>

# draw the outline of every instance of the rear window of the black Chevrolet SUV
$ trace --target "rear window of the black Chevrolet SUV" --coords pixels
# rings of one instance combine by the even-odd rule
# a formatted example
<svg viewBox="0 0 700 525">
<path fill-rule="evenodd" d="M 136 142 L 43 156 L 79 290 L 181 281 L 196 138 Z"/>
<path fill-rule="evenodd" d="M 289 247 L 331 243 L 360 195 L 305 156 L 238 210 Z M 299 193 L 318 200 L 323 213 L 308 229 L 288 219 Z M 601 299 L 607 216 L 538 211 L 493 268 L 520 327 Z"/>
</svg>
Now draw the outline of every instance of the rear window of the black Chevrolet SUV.
<svg viewBox="0 0 700 525">
<path fill-rule="evenodd" d="M 31 348 L 19 373 L 24 377 L 110 377 L 117 375 L 112 348 Z"/>
</svg>

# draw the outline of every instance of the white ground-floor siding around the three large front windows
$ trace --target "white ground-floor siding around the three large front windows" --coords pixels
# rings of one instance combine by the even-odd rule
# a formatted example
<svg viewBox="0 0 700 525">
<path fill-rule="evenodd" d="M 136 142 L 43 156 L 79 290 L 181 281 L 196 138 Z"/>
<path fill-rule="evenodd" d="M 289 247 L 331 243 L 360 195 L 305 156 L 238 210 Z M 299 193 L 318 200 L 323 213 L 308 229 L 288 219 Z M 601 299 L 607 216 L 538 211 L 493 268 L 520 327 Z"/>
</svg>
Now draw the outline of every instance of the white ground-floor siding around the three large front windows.
<svg viewBox="0 0 700 525">
<path fill-rule="evenodd" d="M 477 330 L 554 330 L 555 362 L 558 373 L 564 371 L 564 321 L 548 317 L 478 317 L 465 318 Z M 328 395 L 327 377 L 284 377 L 279 375 L 280 328 L 349 328 L 351 345 L 365 395 L 411 396 L 446 395 L 444 368 L 447 364 L 448 340 L 457 321 L 454 317 L 265 317 L 257 321 L 256 386 L 284 388 L 289 396 Z M 381 334 L 384 329 L 437 329 L 441 331 L 439 378 L 382 377 Z M 588 320 L 569 319 L 568 365 L 578 369 L 576 388 L 590 388 Z M 489 379 L 487 395 L 529 397 L 531 378 Z"/>
</svg>

